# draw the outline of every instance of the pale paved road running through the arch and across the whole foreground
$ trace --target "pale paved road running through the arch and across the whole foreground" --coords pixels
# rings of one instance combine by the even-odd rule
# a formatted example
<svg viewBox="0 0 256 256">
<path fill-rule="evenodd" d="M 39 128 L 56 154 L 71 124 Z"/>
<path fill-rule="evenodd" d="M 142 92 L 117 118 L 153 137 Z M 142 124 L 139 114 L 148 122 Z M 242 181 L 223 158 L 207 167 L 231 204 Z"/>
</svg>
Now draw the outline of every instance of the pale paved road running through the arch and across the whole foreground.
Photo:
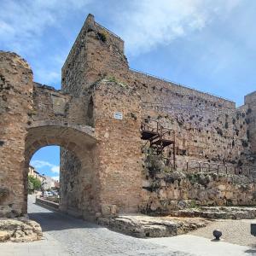
<svg viewBox="0 0 256 256">
<path fill-rule="evenodd" d="M 30 218 L 38 221 L 44 241 L 5 243 L 2 256 L 67 256 L 67 255 L 147 255 L 147 256 L 241 256 L 256 255 L 252 247 L 224 241 L 214 242 L 198 236 L 138 239 L 125 236 L 96 224 L 38 207 L 29 199 Z"/>
</svg>

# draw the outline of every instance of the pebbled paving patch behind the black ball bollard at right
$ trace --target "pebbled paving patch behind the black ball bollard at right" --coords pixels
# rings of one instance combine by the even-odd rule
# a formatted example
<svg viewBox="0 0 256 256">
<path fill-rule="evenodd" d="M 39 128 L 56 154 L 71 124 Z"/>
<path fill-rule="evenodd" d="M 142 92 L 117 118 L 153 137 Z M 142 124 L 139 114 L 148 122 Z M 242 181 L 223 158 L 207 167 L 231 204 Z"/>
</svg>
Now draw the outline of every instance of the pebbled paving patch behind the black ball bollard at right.
<svg viewBox="0 0 256 256">
<path fill-rule="evenodd" d="M 194 236 L 202 236 L 206 238 L 212 238 L 212 230 L 221 230 L 222 238 L 224 241 L 236 243 L 242 246 L 255 247 L 256 249 L 256 237 L 251 235 L 250 224 L 256 223 L 253 219 L 222 219 L 216 220 L 207 227 L 199 230 L 194 230 L 189 234 Z M 256 251 L 255 251 L 256 255 Z"/>
</svg>

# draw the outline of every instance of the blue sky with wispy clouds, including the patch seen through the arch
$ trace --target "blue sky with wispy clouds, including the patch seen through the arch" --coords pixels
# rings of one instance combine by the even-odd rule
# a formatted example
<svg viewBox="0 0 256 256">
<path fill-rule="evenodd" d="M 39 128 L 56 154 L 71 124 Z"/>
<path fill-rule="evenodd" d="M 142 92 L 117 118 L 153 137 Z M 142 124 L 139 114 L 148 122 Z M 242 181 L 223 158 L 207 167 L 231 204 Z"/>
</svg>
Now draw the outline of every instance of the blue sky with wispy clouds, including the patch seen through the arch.
<svg viewBox="0 0 256 256">
<path fill-rule="evenodd" d="M 251 0 L 0 0 L 0 49 L 24 57 L 35 81 L 60 89 L 61 66 L 89 13 L 125 40 L 132 68 L 237 106 L 256 88 Z M 56 176 L 58 157 L 57 148 L 43 148 L 32 160 L 48 162 L 38 171 Z"/>
</svg>

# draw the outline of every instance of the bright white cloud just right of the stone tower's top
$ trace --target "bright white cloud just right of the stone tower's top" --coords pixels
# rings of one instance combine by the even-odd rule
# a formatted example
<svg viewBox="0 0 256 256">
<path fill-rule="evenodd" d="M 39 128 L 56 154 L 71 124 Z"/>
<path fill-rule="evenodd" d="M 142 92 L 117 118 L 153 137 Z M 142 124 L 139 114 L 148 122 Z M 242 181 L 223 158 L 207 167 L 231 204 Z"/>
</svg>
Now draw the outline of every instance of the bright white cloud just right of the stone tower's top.
<svg viewBox="0 0 256 256">
<path fill-rule="evenodd" d="M 131 55 L 200 31 L 219 15 L 228 15 L 241 0 L 141 0 L 119 14 L 116 32 Z"/>
</svg>

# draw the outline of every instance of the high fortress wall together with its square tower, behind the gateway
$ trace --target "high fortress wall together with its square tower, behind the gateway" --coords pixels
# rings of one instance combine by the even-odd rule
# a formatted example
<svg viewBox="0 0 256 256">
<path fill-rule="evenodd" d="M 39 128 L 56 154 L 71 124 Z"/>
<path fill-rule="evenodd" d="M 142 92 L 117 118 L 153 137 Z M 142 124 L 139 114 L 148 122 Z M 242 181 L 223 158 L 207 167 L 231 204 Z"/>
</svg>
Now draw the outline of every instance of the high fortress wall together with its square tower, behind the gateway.
<svg viewBox="0 0 256 256">
<path fill-rule="evenodd" d="M 252 166 L 252 103 L 236 108 L 235 102 L 129 69 L 124 42 L 90 15 L 62 68 L 62 86 L 73 94 L 86 94 L 87 86 L 102 78 L 137 90 L 143 118 L 176 131 L 178 159 Z"/>
</svg>

